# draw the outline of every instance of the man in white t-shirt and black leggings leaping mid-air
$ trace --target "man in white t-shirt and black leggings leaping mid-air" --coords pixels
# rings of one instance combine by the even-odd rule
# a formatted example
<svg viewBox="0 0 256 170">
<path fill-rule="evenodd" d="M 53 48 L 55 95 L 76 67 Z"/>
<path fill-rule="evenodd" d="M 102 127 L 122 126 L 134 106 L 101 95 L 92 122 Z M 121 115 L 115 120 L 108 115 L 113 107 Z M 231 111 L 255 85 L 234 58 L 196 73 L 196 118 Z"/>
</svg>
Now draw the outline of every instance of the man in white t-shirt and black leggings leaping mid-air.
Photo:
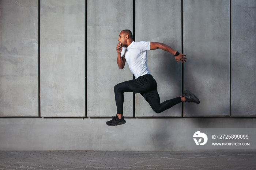
<svg viewBox="0 0 256 170">
<path fill-rule="evenodd" d="M 180 97 L 160 103 L 160 97 L 157 92 L 157 82 L 151 76 L 147 67 L 147 50 L 165 50 L 173 54 L 177 62 L 180 61 L 181 63 L 186 62 L 186 55 L 173 50 L 163 43 L 135 42 L 133 41 L 132 32 L 130 30 L 121 31 L 118 42 L 116 47 L 117 65 L 119 69 L 123 69 L 125 62 L 127 62 L 135 79 L 114 86 L 117 115 L 113 116 L 112 120 L 107 121 L 107 125 L 116 126 L 126 122 L 123 116 L 124 92 L 140 93 L 156 113 L 161 113 L 182 101 L 200 103 L 199 99 L 188 90 L 184 90 Z"/>
</svg>

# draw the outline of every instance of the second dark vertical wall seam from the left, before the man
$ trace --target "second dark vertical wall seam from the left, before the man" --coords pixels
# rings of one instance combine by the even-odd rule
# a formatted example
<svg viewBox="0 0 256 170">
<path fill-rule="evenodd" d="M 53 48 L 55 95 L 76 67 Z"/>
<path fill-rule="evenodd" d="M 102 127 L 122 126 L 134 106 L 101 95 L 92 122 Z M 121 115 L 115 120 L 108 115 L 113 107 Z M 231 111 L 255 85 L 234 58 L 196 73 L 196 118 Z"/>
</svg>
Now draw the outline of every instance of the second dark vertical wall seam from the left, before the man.
<svg viewBox="0 0 256 170">
<path fill-rule="evenodd" d="M 85 117 L 87 117 L 87 0 L 85 0 L 85 29 L 84 29 L 84 72 L 85 72 Z"/>
</svg>

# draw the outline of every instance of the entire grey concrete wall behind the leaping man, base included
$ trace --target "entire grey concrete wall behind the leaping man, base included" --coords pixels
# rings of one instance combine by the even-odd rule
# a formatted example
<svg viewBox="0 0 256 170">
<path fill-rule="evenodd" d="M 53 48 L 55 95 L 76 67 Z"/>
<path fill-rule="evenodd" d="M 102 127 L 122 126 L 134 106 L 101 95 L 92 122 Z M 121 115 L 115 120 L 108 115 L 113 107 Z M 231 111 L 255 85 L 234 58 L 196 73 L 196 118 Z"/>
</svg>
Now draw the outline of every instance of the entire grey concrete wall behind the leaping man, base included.
<svg viewBox="0 0 256 170">
<path fill-rule="evenodd" d="M 0 0 L 0 150 L 197 150 L 198 128 L 255 134 L 255 7 L 253 0 Z M 108 127 L 114 85 L 133 78 L 116 63 L 124 29 L 187 55 L 182 69 L 165 51 L 148 51 L 161 101 L 184 86 L 201 103 L 157 114 L 127 93 L 127 123 Z"/>
</svg>

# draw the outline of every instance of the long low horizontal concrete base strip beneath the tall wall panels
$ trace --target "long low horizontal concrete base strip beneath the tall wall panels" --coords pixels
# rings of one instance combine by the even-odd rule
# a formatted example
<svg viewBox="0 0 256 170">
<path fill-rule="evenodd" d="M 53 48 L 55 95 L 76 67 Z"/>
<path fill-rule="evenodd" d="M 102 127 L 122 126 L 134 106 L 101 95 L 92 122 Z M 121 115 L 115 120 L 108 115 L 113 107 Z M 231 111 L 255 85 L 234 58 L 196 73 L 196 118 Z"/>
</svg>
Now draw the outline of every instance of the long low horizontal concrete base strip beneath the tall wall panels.
<svg viewBox="0 0 256 170">
<path fill-rule="evenodd" d="M 211 117 L 199 118 L 126 118 L 127 123 L 118 127 L 105 124 L 108 119 L 39 119 L 19 118 L 0 119 L 0 150 L 82 150 L 82 151 L 191 151 L 200 150 L 193 140 L 194 128 L 204 132 L 214 128 L 214 135 L 222 134 L 223 129 L 230 128 L 230 134 L 236 134 L 235 128 L 244 128 L 249 134 L 254 129 L 253 118 Z M 233 133 L 232 133 L 233 132 Z M 208 150 L 215 150 L 211 141 L 212 133 L 206 133 Z M 243 133 L 244 134 L 244 133 Z M 249 134 L 250 139 L 255 135 Z M 231 140 L 223 140 L 230 142 Z M 223 142 L 222 141 L 222 142 Z M 236 142 L 245 142 L 238 140 Z M 232 146 L 228 150 L 236 150 L 239 146 Z M 255 140 L 246 146 L 245 150 L 256 148 Z M 220 150 L 227 151 L 226 146 Z M 241 151 L 241 150 L 240 150 Z"/>
</svg>

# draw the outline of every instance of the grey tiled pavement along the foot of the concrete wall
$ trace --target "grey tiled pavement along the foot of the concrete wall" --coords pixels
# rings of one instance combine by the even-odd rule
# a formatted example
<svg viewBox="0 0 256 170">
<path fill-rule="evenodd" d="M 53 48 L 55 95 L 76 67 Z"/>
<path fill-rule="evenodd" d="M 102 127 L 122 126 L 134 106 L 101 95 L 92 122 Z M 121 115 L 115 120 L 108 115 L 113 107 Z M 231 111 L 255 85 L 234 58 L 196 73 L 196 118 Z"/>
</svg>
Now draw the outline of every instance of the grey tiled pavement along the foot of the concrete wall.
<svg viewBox="0 0 256 170">
<path fill-rule="evenodd" d="M 256 169 L 256 151 L 0 151 L 0 170 Z"/>
</svg>

